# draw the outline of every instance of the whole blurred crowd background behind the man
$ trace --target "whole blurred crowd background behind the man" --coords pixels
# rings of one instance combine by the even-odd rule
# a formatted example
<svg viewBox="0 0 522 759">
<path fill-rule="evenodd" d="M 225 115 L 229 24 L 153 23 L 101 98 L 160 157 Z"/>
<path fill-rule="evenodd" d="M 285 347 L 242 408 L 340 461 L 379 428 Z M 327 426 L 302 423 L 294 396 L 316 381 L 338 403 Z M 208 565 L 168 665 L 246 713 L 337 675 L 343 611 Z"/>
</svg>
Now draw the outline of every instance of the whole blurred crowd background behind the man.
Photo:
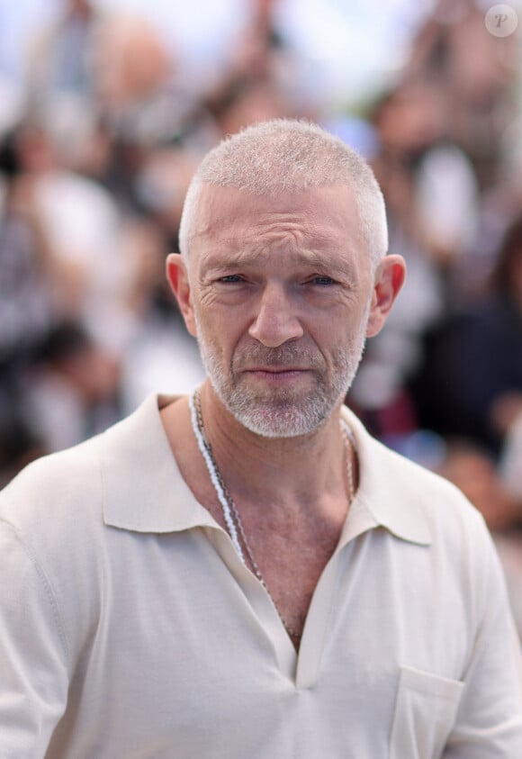
<svg viewBox="0 0 522 759">
<path fill-rule="evenodd" d="M 164 276 L 194 167 L 311 119 L 371 162 L 408 265 L 347 402 L 482 511 L 522 633 L 519 30 L 478 0 L 186 5 L 0 2 L 0 483 L 202 379 Z"/>
</svg>

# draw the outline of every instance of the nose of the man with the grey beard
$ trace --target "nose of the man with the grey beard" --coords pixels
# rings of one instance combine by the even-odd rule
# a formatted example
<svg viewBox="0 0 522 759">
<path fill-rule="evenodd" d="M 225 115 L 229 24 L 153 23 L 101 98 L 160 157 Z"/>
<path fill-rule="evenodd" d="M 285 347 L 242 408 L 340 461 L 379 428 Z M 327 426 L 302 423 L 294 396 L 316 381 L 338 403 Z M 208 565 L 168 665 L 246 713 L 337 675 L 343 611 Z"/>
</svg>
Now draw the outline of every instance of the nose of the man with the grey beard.
<svg viewBox="0 0 522 759">
<path fill-rule="evenodd" d="M 267 348 L 302 338 L 301 322 L 282 286 L 266 285 L 248 334 Z"/>
</svg>

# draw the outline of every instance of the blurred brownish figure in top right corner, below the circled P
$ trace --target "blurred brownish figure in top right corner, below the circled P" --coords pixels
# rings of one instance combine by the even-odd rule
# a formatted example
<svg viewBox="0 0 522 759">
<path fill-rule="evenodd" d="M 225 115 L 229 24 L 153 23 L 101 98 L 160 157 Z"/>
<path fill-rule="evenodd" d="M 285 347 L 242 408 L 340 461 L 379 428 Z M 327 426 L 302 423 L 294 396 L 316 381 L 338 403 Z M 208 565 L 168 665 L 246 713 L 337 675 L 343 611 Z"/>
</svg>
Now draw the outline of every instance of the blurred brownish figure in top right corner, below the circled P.
<svg viewBox="0 0 522 759">
<path fill-rule="evenodd" d="M 517 113 L 519 66 L 518 35 L 491 34 L 487 10 L 477 0 L 437 0 L 404 70 L 406 78 L 428 76 L 444 89 L 446 129 L 471 158 L 482 191 L 495 181 L 501 138 Z"/>
</svg>

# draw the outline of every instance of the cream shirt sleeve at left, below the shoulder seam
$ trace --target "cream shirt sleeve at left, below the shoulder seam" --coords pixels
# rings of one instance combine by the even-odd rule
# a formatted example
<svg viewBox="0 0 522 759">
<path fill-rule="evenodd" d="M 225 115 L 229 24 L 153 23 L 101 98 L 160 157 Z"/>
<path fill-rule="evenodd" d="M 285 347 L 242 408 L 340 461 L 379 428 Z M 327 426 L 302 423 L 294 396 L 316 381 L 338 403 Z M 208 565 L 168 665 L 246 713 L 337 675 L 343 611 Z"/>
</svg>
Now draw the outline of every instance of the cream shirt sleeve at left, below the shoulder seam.
<svg viewBox="0 0 522 759">
<path fill-rule="evenodd" d="M 41 759 L 67 704 L 67 640 L 44 571 L 0 520 L 0 755 Z"/>
</svg>

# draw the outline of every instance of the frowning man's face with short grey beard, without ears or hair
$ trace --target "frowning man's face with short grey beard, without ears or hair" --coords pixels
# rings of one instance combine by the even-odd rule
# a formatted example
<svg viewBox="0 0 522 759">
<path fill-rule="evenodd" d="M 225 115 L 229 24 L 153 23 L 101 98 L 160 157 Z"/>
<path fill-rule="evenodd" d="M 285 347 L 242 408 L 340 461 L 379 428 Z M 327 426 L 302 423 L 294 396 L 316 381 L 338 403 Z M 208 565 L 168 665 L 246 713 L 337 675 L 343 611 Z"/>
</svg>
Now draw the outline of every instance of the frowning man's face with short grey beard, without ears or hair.
<svg viewBox="0 0 522 759">
<path fill-rule="evenodd" d="M 372 304 L 350 189 L 271 198 L 207 186 L 199 218 L 191 331 L 214 391 L 258 435 L 317 429 L 354 379 Z"/>
</svg>

